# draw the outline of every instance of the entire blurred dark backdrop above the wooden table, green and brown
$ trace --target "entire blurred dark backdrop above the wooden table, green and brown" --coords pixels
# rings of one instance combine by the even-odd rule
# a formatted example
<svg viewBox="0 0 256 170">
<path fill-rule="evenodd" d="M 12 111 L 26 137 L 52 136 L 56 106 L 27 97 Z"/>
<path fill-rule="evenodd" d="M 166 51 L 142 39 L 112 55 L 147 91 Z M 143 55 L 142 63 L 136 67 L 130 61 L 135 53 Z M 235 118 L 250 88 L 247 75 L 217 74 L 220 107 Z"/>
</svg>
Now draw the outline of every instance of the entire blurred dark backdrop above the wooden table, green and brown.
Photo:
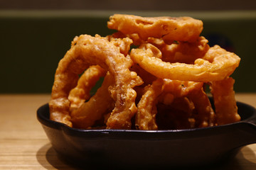
<svg viewBox="0 0 256 170">
<path fill-rule="evenodd" d="M 0 0 L 0 94 L 50 93 L 59 60 L 76 35 L 113 33 L 114 13 L 191 16 L 202 35 L 241 58 L 235 91 L 256 92 L 256 1 Z"/>
</svg>

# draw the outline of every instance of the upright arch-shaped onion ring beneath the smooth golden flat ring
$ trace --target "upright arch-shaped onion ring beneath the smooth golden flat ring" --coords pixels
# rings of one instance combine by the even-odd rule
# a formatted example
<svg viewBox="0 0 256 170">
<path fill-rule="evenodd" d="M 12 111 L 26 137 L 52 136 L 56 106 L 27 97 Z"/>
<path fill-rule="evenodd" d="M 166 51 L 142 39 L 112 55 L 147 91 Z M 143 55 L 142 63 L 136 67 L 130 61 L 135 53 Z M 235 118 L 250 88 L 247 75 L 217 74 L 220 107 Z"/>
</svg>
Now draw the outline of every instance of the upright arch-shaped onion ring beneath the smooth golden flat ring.
<svg viewBox="0 0 256 170">
<path fill-rule="evenodd" d="M 208 96 L 203 91 L 203 83 L 171 79 L 157 79 L 151 85 L 146 86 L 146 92 L 138 103 L 135 125 L 139 130 L 157 130 L 157 103 L 171 105 L 176 98 L 183 97 L 191 100 L 195 106 L 197 127 L 214 125 L 215 113 Z M 189 122 L 188 117 L 187 122 Z"/>
</svg>

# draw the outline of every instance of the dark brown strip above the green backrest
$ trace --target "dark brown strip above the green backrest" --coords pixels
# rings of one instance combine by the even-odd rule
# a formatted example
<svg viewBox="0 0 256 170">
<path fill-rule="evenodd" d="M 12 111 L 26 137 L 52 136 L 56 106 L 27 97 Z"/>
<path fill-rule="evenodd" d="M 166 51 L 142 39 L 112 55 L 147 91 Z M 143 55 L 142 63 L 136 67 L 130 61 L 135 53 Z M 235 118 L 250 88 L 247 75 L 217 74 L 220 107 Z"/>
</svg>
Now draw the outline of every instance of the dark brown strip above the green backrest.
<svg viewBox="0 0 256 170">
<path fill-rule="evenodd" d="M 132 11 L 220 11 L 255 10 L 255 0 L 9 0 L 0 1 L 1 9 L 75 9 Z"/>
</svg>

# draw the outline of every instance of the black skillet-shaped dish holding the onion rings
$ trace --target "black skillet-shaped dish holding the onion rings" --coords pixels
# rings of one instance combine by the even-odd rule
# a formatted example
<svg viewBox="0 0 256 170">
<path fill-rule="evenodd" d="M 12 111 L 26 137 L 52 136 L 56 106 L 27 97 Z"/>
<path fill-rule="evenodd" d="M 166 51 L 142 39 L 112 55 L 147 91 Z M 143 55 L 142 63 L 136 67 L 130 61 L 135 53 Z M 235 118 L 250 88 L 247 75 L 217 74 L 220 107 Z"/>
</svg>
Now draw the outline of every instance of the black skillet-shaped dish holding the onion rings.
<svg viewBox="0 0 256 170">
<path fill-rule="evenodd" d="M 49 120 L 48 104 L 37 118 L 55 151 L 75 164 L 203 166 L 256 142 L 256 109 L 238 102 L 238 113 L 238 123 L 188 130 L 79 130 Z"/>
</svg>

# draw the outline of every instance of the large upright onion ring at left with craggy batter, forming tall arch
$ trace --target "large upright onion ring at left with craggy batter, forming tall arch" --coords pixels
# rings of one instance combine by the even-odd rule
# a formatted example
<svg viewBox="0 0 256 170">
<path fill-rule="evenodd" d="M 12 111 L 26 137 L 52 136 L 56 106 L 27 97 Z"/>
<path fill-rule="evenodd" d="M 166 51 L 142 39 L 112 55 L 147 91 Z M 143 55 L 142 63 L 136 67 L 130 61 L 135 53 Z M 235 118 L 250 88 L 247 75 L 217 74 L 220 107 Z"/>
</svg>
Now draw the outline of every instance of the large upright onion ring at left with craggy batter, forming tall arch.
<svg viewBox="0 0 256 170">
<path fill-rule="evenodd" d="M 76 86 L 78 74 L 96 64 L 113 75 L 117 89 L 116 105 L 110 115 L 110 118 L 113 118 L 108 120 L 108 128 L 129 129 L 129 118 L 134 115 L 133 110 L 129 108 L 135 105 L 136 98 L 136 92 L 126 85 L 132 81 L 129 71 L 131 61 L 120 52 L 119 47 L 100 35 L 80 35 L 75 38 L 70 50 L 60 60 L 49 102 L 50 119 L 72 127 L 68 94 Z"/>
</svg>

